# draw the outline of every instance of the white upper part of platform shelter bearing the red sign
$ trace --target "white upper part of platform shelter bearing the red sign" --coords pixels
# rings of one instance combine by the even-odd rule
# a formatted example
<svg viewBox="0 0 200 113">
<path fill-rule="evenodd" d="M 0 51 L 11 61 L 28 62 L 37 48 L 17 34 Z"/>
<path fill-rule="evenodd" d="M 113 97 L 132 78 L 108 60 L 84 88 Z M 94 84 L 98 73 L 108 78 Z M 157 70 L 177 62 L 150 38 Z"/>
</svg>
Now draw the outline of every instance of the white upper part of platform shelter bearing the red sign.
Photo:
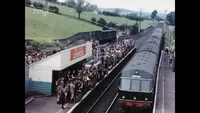
<svg viewBox="0 0 200 113">
<path fill-rule="evenodd" d="M 72 54 L 76 55 L 76 58 L 71 59 Z M 68 66 L 71 66 L 90 56 L 92 56 L 92 42 L 87 42 L 83 45 L 69 48 L 51 56 L 48 56 L 47 58 L 30 64 L 29 67 L 50 70 L 63 70 Z"/>
</svg>

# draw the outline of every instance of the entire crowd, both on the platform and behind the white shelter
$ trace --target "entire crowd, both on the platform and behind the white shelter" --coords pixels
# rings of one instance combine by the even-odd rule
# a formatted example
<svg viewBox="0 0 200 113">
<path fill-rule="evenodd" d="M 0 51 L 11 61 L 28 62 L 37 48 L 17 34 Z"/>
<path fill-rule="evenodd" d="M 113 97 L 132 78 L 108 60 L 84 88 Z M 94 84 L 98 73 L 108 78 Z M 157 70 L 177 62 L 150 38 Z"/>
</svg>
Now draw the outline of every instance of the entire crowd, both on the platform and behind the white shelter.
<svg viewBox="0 0 200 113">
<path fill-rule="evenodd" d="M 123 40 L 118 43 L 104 46 L 99 45 L 98 41 L 92 41 L 92 56 L 96 59 L 98 52 L 99 65 L 92 64 L 86 68 L 86 61 L 73 70 L 63 71 L 56 81 L 57 102 L 64 104 L 66 102 L 79 101 L 85 93 L 95 87 L 95 84 L 102 80 L 106 74 L 122 59 L 134 46 L 132 40 Z M 53 49 L 50 52 L 44 52 L 38 48 L 25 48 L 25 61 L 27 64 L 39 61 L 47 56 L 55 54 L 61 49 Z M 62 106 L 62 108 L 64 108 Z"/>
</svg>

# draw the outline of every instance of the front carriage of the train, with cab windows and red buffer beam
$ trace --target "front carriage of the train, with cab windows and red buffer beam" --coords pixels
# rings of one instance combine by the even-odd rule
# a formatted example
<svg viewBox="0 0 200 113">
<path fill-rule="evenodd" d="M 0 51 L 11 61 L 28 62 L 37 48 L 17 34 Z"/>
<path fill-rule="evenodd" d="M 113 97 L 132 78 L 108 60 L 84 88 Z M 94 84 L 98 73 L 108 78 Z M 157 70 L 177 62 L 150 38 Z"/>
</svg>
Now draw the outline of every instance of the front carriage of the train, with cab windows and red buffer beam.
<svg viewBox="0 0 200 113">
<path fill-rule="evenodd" d="M 156 64 L 157 55 L 149 51 L 141 51 L 131 59 L 121 73 L 118 96 L 121 105 L 139 109 L 152 108 Z"/>
</svg>

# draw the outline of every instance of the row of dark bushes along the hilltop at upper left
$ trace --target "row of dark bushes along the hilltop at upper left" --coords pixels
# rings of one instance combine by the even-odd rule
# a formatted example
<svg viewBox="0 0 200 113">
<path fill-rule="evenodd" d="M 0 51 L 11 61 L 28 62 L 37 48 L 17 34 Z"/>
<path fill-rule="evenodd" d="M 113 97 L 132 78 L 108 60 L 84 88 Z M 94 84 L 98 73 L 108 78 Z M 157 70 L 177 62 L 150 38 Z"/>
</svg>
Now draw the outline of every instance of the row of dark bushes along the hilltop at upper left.
<svg viewBox="0 0 200 113">
<path fill-rule="evenodd" d="M 30 7 L 31 5 L 33 5 L 34 8 L 36 9 L 41 9 L 41 10 L 47 10 L 45 8 L 45 5 L 40 3 L 40 2 L 31 2 L 30 0 L 25 0 L 25 6 Z M 59 13 L 59 8 L 56 6 L 48 6 L 48 11 L 49 12 L 53 12 L 53 13 Z"/>
</svg>

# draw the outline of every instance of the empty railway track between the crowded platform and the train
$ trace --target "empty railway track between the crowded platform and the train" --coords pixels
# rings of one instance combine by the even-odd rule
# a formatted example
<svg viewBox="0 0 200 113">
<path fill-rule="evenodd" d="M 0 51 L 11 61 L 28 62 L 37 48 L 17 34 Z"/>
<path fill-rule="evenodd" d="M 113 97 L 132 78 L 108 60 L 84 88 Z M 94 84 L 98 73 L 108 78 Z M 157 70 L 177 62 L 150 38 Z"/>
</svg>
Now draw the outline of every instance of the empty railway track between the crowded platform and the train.
<svg viewBox="0 0 200 113">
<path fill-rule="evenodd" d="M 151 33 L 153 30 L 148 32 Z M 148 35 L 146 34 L 146 35 Z M 148 39 L 149 36 L 144 36 L 144 38 L 139 40 L 138 48 L 142 46 L 141 42 Z M 101 94 L 101 96 L 95 101 L 95 103 L 90 107 L 87 113 L 121 113 L 119 111 L 119 106 L 117 104 L 117 96 L 118 96 L 118 84 L 119 77 L 118 75 L 113 79 L 113 81 L 109 84 L 109 86 L 105 89 L 105 91 Z"/>
</svg>

